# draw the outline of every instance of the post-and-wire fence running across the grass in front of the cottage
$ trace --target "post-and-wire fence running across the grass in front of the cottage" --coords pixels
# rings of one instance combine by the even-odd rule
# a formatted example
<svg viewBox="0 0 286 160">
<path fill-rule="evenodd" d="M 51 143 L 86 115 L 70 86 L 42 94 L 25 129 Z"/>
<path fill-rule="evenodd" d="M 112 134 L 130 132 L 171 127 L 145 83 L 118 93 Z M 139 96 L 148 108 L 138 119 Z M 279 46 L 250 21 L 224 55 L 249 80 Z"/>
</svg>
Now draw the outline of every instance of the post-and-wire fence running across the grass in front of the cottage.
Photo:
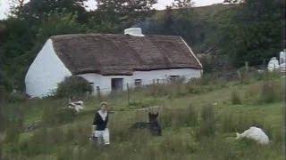
<svg viewBox="0 0 286 160">
<path fill-rule="evenodd" d="M 145 81 L 144 84 L 136 84 L 136 82 L 133 82 L 132 84 L 126 83 L 122 84 L 122 91 L 112 91 L 112 87 L 100 88 L 100 86 L 97 86 L 94 95 L 96 99 L 100 101 L 112 100 L 114 103 L 116 103 L 116 100 L 124 100 L 124 105 L 127 106 L 142 107 L 144 105 L 159 105 L 162 104 L 162 101 L 160 100 L 162 100 L 162 97 L 164 96 L 169 98 L 170 96 L 181 96 L 189 92 L 206 92 L 200 90 L 209 90 L 209 88 L 214 89 L 214 87 L 216 87 L 209 85 L 204 88 L 200 87 L 200 85 L 207 85 L 211 83 L 211 85 L 223 86 L 226 81 L 248 83 L 251 76 L 256 76 L 253 74 L 257 74 L 257 71 L 253 72 L 255 71 L 254 69 L 257 68 L 249 67 L 248 62 L 245 62 L 244 68 L 223 70 L 214 72 L 212 74 L 205 74 L 202 79 L 194 81 L 198 84 L 198 86 L 191 86 L 196 85 L 192 83 L 193 79 L 191 78 L 194 76 L 193 74 L 179 77 L 169 76 L 165 78 L 152 79 Z M 189 80 L 189 84 L 182 83 L 183 81 L 187 82 Z M 120 104 L 122 104 L 122 102 L 120 102 Z"/>
</svg>

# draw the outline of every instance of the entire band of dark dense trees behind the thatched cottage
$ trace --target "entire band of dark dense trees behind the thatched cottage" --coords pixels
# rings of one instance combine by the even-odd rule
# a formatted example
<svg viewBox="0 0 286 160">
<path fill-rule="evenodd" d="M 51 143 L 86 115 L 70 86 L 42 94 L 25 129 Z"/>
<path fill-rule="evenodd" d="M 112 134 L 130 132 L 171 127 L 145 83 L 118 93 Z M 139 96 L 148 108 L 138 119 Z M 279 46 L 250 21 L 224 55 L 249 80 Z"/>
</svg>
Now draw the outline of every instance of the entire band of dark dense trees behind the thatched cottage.
<svg viewBox="0 0 286 160">
<path fill-rule="evenodd" d="M 152 9 L 156 0 L 95 0 L 92 12 L 85 10 L 85 1 L 30 0 L 0 20 L 0 85 L 7 92 L 23 90 L 29 64 L 53 35 L 122 34 L 124 28 L 140 27 L 144 34 L 182 36 L 196 53 L 211 52 L 233 67 L 244 61 L 260 65 L 285 43 L 281 0 L 197 8 L 189 0 L 175 0 L 164 11 Z"/>
</svg>

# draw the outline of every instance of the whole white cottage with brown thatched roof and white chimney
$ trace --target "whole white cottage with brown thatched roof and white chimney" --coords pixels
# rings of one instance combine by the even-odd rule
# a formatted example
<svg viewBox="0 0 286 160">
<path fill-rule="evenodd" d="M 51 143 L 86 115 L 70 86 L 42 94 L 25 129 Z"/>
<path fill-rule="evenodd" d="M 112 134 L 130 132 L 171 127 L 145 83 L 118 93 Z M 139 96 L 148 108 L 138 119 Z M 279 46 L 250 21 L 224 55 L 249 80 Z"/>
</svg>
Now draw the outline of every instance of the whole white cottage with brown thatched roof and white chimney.
<svg viewBox="0 0 286 160">
<path fill-rule="evenodd" d="M 102 92 L 124 90 L 125 84 L 151 84 L 154 79 L 200 77 L 203 67 L 181 36 L 144 36 L 140 28 L 125 35 L 51 36 L 29 67 L 26 92 L 44 97 L 64 77 L 82 76 Z M 131 85 L 130 85 L 131 86 Z"/>
</svg>

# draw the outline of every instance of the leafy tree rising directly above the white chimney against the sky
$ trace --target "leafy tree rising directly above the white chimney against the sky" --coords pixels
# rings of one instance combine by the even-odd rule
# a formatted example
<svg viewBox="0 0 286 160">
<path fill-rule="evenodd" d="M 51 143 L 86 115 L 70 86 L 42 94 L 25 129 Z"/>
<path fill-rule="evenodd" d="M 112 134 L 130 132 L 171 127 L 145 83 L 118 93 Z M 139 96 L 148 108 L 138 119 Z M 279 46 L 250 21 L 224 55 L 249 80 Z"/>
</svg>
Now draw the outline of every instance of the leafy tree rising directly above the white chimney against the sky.
<svg viewBox="0 0 286 160">
<path fill-rule="evenodd" d="M 156 0 L 97 0 L 93 24 L 97 23 L 113 33 L 122 31 L 149 16 Z M 98 27 L 98 25 L 97 25 Z"/>
</svg>

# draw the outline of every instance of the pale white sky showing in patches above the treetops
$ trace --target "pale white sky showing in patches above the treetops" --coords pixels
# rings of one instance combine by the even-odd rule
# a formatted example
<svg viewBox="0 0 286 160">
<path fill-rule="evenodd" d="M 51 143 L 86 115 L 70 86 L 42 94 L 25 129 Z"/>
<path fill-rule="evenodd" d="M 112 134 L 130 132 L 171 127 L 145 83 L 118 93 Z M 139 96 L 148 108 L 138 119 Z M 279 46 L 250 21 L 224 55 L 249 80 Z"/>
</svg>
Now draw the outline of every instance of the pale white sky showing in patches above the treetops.
<svg viewBox="0 0 286 160">
<path fill-rule="evenodd" d="M 4 19 L 6 17 L 6 14 L 9 12 L 9 2 L 11 2 L 11 0 L 0 0 L 0 20 Z M 87 4 L 90 9 L 94 8 L 94 6 L 96 5 L 94 2 L 94 0 L 88 1 Z M 158 4 L 155 5 L 155 8 L 157 10 L 163 10 L 166 5 L 172 4 L 172 2 L 173 0 L 158 0 Z M 195 6 L 204 6 L 223 3 L 223 0 L 193 0 L 193 2 L 195 3 Z"/>
</svg>

